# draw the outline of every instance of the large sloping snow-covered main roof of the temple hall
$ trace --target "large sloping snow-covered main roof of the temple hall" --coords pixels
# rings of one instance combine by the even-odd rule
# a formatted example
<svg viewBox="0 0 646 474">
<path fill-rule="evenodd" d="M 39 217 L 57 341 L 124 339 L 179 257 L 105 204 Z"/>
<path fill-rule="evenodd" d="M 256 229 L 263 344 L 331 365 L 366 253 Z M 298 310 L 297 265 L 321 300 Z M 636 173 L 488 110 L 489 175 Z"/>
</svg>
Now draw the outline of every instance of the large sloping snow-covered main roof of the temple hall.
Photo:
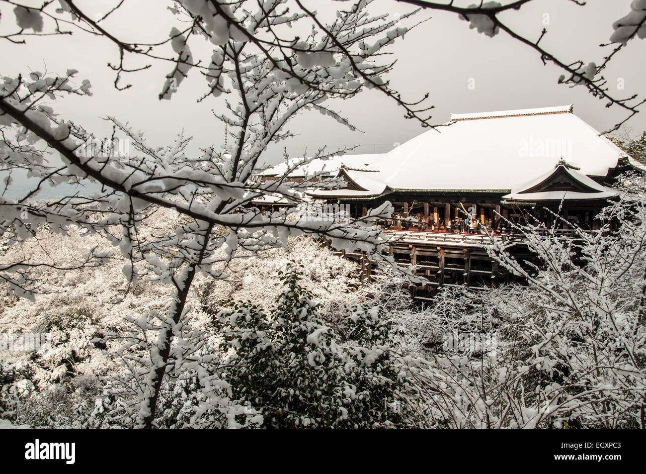
<svg viewBox="0 0 646 474">
<path fill-rule="evenodd" d="M 451 120 L 376 156 L 370 169 L 344 170 L 360 185 L 316 197 L 374 197 L 384 191 L 510 193 L 565 160 L 578 174 L 606 177 L 627 156 L 573 112 L 572 105 L 452 114 Z M 361 182 L 364 184 L 361 184 Z M 365 186 L 364 186 L 365 185 Z"/>
</svg>

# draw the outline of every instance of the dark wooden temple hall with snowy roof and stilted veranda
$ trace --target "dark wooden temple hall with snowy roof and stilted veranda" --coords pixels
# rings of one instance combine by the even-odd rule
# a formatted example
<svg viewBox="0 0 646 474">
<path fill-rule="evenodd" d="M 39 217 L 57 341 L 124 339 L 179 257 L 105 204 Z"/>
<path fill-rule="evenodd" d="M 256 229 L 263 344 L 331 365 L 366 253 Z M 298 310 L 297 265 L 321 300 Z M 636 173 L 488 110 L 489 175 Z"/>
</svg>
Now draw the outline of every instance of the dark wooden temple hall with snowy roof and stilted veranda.
<svg viewBox="0 0 646 474">
<path fill-rule="evenodd" d="M 378 224 L 399 237 L 390 249 L 395 258 L 417 265 L 430 282 L 423 292 L 443 283 L 505 281 L 478 244 L 483 234 L 514 239 L 506 222 L 530 216 L 552 226 L 547 210 L 598 229 L 595 216 L 618 196 L 610 187 L 617 175 L 630 166 L 643 170 L 572 105 L 452 114 L 389 153 L 348 158 L 337 163 L 342 188 L 309 195 L 345 204 L 353 217 L 391 202 L 392 219 Z M 558 226 L 568 232 L 567 223 Z"/>
</svg>

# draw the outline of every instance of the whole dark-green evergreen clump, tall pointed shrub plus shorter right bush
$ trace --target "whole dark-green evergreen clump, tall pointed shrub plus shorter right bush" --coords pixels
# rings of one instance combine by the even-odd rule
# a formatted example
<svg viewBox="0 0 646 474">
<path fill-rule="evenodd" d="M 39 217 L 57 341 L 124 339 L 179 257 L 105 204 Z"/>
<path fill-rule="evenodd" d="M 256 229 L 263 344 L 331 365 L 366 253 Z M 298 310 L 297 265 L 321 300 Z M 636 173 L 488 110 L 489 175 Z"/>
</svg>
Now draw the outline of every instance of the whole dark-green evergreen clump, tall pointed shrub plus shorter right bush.
<svg viewBox="0 0 646 474">
<path fill-rule="evenodd" d="M 378 307 L 353 310 L 344 347 L 322 323 L 302 267 L 280 272 L 286 288 L 271 314 L 236 303 L 218 319 L 230 350 L 225 378 L 233 398 L 258 409 L 264 427 L 388 427 L 401 423 L 398 370 Z"/>
</svg>

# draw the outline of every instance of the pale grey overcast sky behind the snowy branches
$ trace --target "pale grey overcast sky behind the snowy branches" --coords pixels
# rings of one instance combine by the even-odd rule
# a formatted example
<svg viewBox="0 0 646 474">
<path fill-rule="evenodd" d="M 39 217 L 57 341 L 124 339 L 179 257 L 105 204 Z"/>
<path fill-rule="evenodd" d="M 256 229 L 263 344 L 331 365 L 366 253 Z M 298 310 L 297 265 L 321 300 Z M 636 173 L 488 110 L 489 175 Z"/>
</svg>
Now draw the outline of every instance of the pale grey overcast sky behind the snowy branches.
<svg viewBox="0 0 646 474">
<path fill-rule="evenodd" d="M 40 1 L 34 2 L 36 5 Z M 105 12 L 117 2 L 78 0 L 77 4 L 90 12 Z M 333 12 L 339 5 L 333 1 L 305 2 L 319 12 Z M 469 5 L 472 1 L 455 2 Z M 506 3 L 506 2 L 505 2 Z M 109 30 L 144 41 L 167 38 L 173 16 L 165 10 L 167 3 L 159 0 L 130 0 L 123 10 L 103 23 Z M 583 59 L 600 63 L 610 48 L 599 48 L 612 33 L 612 23 L 629 12 L 630 0 L 588 0 L 587 6 L 576 6 L 568 0 L 538 0 L 523 6 L 518 12 L 506 12 L 501 19 L 508 25 L 536 39 L 548 15 L 548 34 L 541 45 L 565 61 Z M 374 12 L 401 14 L 409 5 L 394 0 L 379 0 L 371 7 Z M 8 6 L 0 3 L 0 30 L 6 31 L 14 18 Z M 433 120 L 446 122 L 452 112 L 477 112 L 530 107 L 547 107 L 574 103 L 574 112 L 590 125 L 603 131 L 625 116 L 619 107 L 606 109 L 605 102 L 590 96 L 583 87 L 570 89 L 557 84 L 561 71 L 553 65 L 543 66 L 536 52 L 501 32 L 494 38 L 469 29 L 469 23 L 448 12 L 421 12 L 419 18 L 432 18 L 406 35 L 390 48 L 397 58 L 390 74 L 391 84 L 405 99 L 415 100 L 429 92 L 429 104 L 435 105 Z M 175 133 L 184 129 L 194 136 L 194 144 L 220 145 L 224 125 L 214 119 L 211 109 L 221 109 L 222 100 L 209 99 L 196 103 L 205 91 L 205 80 L 197 70 L 189 74 L 171 101 L 158 100 L 164 76 L 170 72 L 168 63 L 155 63 L 150 70 L 129 74 L 124 83 L 132 83 L 128 91 L 116 91 L 112 85 L 114 73 L 106 67 L 117 61 L 116 47 L 101 38 L 75 33 L 71 37 L 27 38 L 26 45 L 0 46 L 0 74 L 23 74 L 28 70 L 47 69 L 63 73 L 68 68 L 79 70 L 79 79 L 92 82 L 91 98 L 68 98 L 56 103 L 61 118 L 74 120 L 97 136 L 105 136 L 107 124 L 99 117 L 114 115 L 145 132 L 151 145 L 163 145 Z M 193 48 L 193 44 L 191 44 Z M 611 89 L 623 78 L 624 91 L 618 96 L 646 94 L 644 61 L 646 41 L 632 40 L 604 72 Z M 194 53 L 196 51 L 194 50 Z M 208 56 L 207 56 L 208 57 Z M 141 65 L 142 59 L 132 58 L 129 65 Z M 469 89 L 470 78 L 475 89 Z M 334 120 L 317 113 L 298 116 L 289 127 L 299 135 L 267 151 L 266 162 L 280 160 L 282 146 L 291 155 L 314 150 L 323 145 L 331 149 L 359 145 L 355 153 L 388 151 L 395 142 L 405 142 L 425 130 L 403 118 L 403 111 L 378 91 L 366 91 L 357 98 L 336 102 L 341 111 L 362 133 L 351 132 Z M 634 133 L 646 129 L 646 111 L 632 118 L 628 126 Z"/>
</svg>

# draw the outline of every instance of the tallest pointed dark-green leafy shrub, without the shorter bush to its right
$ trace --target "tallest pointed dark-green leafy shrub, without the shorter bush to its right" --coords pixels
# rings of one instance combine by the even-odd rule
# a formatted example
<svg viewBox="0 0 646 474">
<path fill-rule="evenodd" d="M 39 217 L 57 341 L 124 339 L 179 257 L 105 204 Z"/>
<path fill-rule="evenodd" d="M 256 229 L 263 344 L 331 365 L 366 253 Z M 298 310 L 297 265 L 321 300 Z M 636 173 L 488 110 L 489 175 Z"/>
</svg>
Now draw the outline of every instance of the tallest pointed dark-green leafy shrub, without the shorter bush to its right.
<svg viewBox="0 0 646 474">
<path fill-rule="evenodd" d="M 233 397 L 258 409 L 266 427 L 344 426 L 354 387 L 301 277 L 293 266 L 280 272 L 286 289 L 271 319 L 245 303 L 220 312 L 231 335 L 224 345 L 233 349 L 225 378 Z"/>
</svg>

